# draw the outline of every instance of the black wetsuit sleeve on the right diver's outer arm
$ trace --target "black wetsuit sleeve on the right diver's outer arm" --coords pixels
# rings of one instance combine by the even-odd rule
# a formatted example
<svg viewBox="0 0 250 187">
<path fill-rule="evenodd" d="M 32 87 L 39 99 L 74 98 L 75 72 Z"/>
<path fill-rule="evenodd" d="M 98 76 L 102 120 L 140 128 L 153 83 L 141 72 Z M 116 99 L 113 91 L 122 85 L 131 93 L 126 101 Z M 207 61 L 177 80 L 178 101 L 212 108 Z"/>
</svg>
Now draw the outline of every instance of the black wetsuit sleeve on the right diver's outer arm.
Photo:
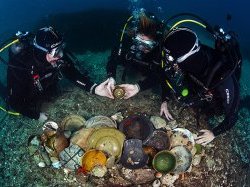
<svg viewBox="0 0 250 187">
<path fill-rule="evenodd" d="M 223 99 L 225 119 L 215 127 L 212 132 L 218 136 L 230 130 L 238 119 L 238 104 L 240 99 L 239 84 L 233 75 L 229 77 L 219 88 L 218 91 Z"/>
</svg>

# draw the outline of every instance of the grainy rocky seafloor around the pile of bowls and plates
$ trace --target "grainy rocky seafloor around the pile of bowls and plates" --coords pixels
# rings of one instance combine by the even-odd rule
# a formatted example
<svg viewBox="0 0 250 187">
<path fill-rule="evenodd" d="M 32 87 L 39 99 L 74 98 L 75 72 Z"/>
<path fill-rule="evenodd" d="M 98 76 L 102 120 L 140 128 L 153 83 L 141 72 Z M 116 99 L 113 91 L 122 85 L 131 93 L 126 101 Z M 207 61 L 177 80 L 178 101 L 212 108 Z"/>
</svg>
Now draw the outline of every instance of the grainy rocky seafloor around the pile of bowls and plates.
<svg viewBox="0 0 250 187">
<path fill-rule="evenodd" d="M 85 68 L 97 81 L 105 78 L 105 67 L 100 65 L 106 62 L 108 53 L 89 52 L 79 56 L 88 62 Z M 62 94 L 44 106 L 49 119 L 58 123 L 69 114 L 89 119 L 96 115 L 111 116 L 125 109 L 157 116 L 159 108 L 160 97 L 152 90 L 141 92 L 129 100 L 110 100 L 86 93 L 73 85 L 63 86 Z M 192 109 L 182 110 L 175 103 L 170 103 L 170 108 L 178 127 L 193 133 L 206 128 L 205 116 L 201 115 L 197 125 L 196 113 Z M 204 148 L 205 154 L 199 165 L 184 175 L 176 176 L 174 183 L 168 178 L 171 176 L 162 177 L 162 186 L 250 186 L 249 116 L 249 111 L 242 109 L 237 125 Z M 104 178 L 65 173 L 63 169 L 51 167 L 40 168 L 29 155 L 27 145 L 31 135 L 42 133 L 43 124 L 2 113 L 0 121 L 0 186 L 152 186 L 155 180 L 153 170 L 126 171 L 120 165 L 109 170 Z"/>
</svg>

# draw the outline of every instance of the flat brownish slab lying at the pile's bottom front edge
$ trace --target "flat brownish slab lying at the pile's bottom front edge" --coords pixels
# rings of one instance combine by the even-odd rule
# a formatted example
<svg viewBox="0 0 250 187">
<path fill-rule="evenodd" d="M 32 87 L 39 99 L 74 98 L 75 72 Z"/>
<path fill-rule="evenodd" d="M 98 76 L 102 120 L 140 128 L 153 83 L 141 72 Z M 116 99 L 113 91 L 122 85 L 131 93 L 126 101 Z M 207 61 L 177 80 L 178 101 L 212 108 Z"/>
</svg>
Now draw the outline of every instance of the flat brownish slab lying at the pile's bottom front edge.
<svg viewBox="0 0 250 187">
<path fill-rule="evenodd" d="M 122 169 L 122 174 L 135 185 L 151 183 L 155 180 L 155 171 L 152 169 Z"/>
</svg>

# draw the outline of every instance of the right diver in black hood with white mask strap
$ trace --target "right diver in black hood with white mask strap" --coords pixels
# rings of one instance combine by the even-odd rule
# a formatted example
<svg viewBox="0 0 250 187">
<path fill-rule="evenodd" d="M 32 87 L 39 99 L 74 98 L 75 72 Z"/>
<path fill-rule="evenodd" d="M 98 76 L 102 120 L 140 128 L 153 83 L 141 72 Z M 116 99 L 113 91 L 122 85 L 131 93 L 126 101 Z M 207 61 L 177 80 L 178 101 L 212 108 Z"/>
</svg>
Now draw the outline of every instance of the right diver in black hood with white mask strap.
<svg viewBox="0 0 250 187">
<path fill-rule="evenodd" d="M 197 34 L 187 27 L 172 27 L 162 44 L 165 83 L 161 114 L 172 119 L 168 110 L 171 98 L 183 106 L 224 114 L 224 120 L 216 127 L 200 131 L 196 143 L 202 145 L 234 126 L 240 99 L 242 57 L 236 36 L 220 27 L 213 33 L 215 48 L 201 44 Z"/>
</svg>

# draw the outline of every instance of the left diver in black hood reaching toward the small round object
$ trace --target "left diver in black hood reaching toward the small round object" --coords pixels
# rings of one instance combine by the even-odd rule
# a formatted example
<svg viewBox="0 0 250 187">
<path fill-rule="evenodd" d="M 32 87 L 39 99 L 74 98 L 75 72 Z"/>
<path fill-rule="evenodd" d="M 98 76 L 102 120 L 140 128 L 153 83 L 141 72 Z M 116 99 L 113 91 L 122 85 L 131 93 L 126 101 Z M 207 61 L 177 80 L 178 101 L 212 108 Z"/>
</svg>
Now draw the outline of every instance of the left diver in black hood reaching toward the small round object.
<svg viewBox="0 0 250 187">
<path fill-rule="evenodd" d="M 7 70 L 7 102 L 15 111 L 46 121 L 41 105 L 57 95 L 57 83 L 63 76 L 92 94 L 111 97 L 109 79 L 98 85 L 80 73 L 75 57 L 65 49 L 63 37 L 54 28 L 41 28 L 34 37 L 28 32 L 17 36 L 9 49 Z"/>
</svg>

